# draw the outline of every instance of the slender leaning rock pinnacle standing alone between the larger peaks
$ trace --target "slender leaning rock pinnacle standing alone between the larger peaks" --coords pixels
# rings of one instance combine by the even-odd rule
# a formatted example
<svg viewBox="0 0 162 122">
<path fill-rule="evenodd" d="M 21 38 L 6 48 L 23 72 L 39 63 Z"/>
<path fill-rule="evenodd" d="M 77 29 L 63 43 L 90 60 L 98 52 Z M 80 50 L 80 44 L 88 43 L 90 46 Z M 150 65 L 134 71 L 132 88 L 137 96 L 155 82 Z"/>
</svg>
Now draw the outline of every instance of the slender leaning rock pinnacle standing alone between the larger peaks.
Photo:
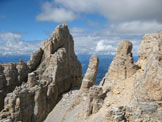
<svg viewBox="0 0 162 122">
<path fill-rule="evenodd" d="M 81 85 L 81 89 L 80 89 L 81 91 L 87 91 L 90 87 L 95 85 L 98 63 L 99 63 L 98 57 L 92 56 L 89 61 L 88 69 L 87 69 L 85 76 L 82 80 L 82 85 Z"/>
</svg>

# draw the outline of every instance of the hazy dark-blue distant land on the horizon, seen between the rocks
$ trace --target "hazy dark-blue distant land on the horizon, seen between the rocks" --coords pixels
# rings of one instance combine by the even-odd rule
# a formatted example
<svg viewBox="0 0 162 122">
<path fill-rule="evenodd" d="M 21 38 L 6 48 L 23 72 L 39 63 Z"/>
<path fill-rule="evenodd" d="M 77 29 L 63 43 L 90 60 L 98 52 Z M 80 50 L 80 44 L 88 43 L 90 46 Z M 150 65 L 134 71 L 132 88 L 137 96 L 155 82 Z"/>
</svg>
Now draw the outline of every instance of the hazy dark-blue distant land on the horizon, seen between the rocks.
<svg viewBox="0 0 162 122">
<path fill-rule="evenodd" d="M 78 59 L 82 64 L 82 75 L 84 76 L 91 55 L 78 55 Z M 99 84 L 102 78 L 105 76 L 105 73 L 108 71 L 108 67 L 111 64 L 114 56 L 113 55 L 98 55 L 99 57 L 99 67 L 96 77 L 96 84 Z M 24 62 L 27 62 L 30 59 L 29 55 L 7 55 L 0 56 L 0 64 L 9 63 L 9 62 L 19 62 L 20 59 L 23 59 Z M 137 61 L 138 57 L 134 57 L 134 60 Z"/>
</svg>

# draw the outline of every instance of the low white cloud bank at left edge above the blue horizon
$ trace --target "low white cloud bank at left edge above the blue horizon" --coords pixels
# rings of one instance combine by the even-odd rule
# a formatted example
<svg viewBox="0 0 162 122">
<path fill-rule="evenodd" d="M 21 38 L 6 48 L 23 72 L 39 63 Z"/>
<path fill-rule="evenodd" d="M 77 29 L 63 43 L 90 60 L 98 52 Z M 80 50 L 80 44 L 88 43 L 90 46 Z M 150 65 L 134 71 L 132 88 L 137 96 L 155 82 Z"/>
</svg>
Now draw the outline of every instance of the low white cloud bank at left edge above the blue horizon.
<svg viewBox="0 0 162 122">
<path fill-rule="evenodd" d="M 0 33 L 0 55 L 31 54 L 40 46 L 40 41 L 25 42 L 21 34 Z"/>
</svg>

